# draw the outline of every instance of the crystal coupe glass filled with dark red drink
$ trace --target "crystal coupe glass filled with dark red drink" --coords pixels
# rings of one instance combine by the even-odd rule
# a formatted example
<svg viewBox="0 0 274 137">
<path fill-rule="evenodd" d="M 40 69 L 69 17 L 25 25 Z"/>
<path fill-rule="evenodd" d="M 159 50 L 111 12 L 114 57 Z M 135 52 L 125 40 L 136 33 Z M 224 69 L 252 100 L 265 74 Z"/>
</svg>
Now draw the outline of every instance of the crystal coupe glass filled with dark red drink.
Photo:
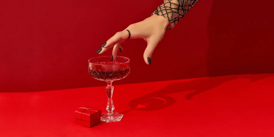
<svg viewBox="0 0 274 137">
<path fill-rule="evenodd" d="M 94 79 L 107 82 L 107 111 L 102 113 L 101 121 L 115 122 L 121 121 L 123 114 L 113 112 L 112 82 L 128 76 L 130 72 L 130 62 L 126 57 L 121 56 L 100 56 L 89 59 L 89 73 Z"/>
</svg>

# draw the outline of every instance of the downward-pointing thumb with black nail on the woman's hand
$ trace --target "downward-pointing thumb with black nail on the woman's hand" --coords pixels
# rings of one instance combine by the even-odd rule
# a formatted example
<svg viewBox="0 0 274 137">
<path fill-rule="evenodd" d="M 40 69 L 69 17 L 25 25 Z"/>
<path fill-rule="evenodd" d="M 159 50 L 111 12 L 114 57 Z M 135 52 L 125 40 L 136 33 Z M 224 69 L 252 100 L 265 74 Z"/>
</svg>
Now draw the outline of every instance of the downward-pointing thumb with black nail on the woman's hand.
<svg viewBox="0 0 274 137">
<path fill-rule="evenodd" d="M 147 47 L 144 52 L 144 60 L 147 65 L 151 65 L 151 56 L 158 43 L 159 40 L 156 39 L 147 40 Z"/>
</svg>

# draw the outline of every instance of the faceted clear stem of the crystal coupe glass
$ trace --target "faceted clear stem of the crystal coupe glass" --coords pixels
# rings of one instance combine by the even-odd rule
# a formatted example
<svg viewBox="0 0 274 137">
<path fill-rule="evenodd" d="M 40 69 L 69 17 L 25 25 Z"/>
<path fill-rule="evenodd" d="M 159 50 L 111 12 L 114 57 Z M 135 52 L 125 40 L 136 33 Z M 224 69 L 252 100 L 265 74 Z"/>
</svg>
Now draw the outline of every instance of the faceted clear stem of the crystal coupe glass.
<svg viewBox="0 0 274 137">
<path fill-rule="evenodd" d="M 112 82 L 107 82 L 107 111 L 108 114 L 111 115 L 113 114 L 113 110 L 114 110 L 114 105 L 113 105 L 113 101 L 112 101 L 112 93 L 113 93 L 113 86 L 112 86 Z"/>
</svg>

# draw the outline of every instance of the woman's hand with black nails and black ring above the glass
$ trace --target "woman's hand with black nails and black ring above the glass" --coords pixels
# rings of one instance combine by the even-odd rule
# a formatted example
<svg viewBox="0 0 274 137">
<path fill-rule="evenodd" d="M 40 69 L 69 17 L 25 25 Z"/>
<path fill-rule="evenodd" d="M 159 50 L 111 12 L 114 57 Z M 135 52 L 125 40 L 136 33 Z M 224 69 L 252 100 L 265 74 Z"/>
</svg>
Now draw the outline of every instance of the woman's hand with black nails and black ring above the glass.
<svg viewBox="0 0 274 137">
<path fill-rule="evenodd" d="M 125 39 L 128 39 L 129 32 L 127 30 L 129 30 L 130 39 L 142 38 L 147 42 L 144 60 L 146 64 L 151 64 L 152 53 L 160 40 L 162 40 L 168 24 L 168 19 L 163 16 L 150 16 L 141 22 L 129 25 L 123 31 L 117 32 L 102 45 L 102 48 L 97 53 L 102 54 L 113 47 L 112 55 L 115 57 L 119 50 L 124 50 L 123 42 Z"/>
</svg>

